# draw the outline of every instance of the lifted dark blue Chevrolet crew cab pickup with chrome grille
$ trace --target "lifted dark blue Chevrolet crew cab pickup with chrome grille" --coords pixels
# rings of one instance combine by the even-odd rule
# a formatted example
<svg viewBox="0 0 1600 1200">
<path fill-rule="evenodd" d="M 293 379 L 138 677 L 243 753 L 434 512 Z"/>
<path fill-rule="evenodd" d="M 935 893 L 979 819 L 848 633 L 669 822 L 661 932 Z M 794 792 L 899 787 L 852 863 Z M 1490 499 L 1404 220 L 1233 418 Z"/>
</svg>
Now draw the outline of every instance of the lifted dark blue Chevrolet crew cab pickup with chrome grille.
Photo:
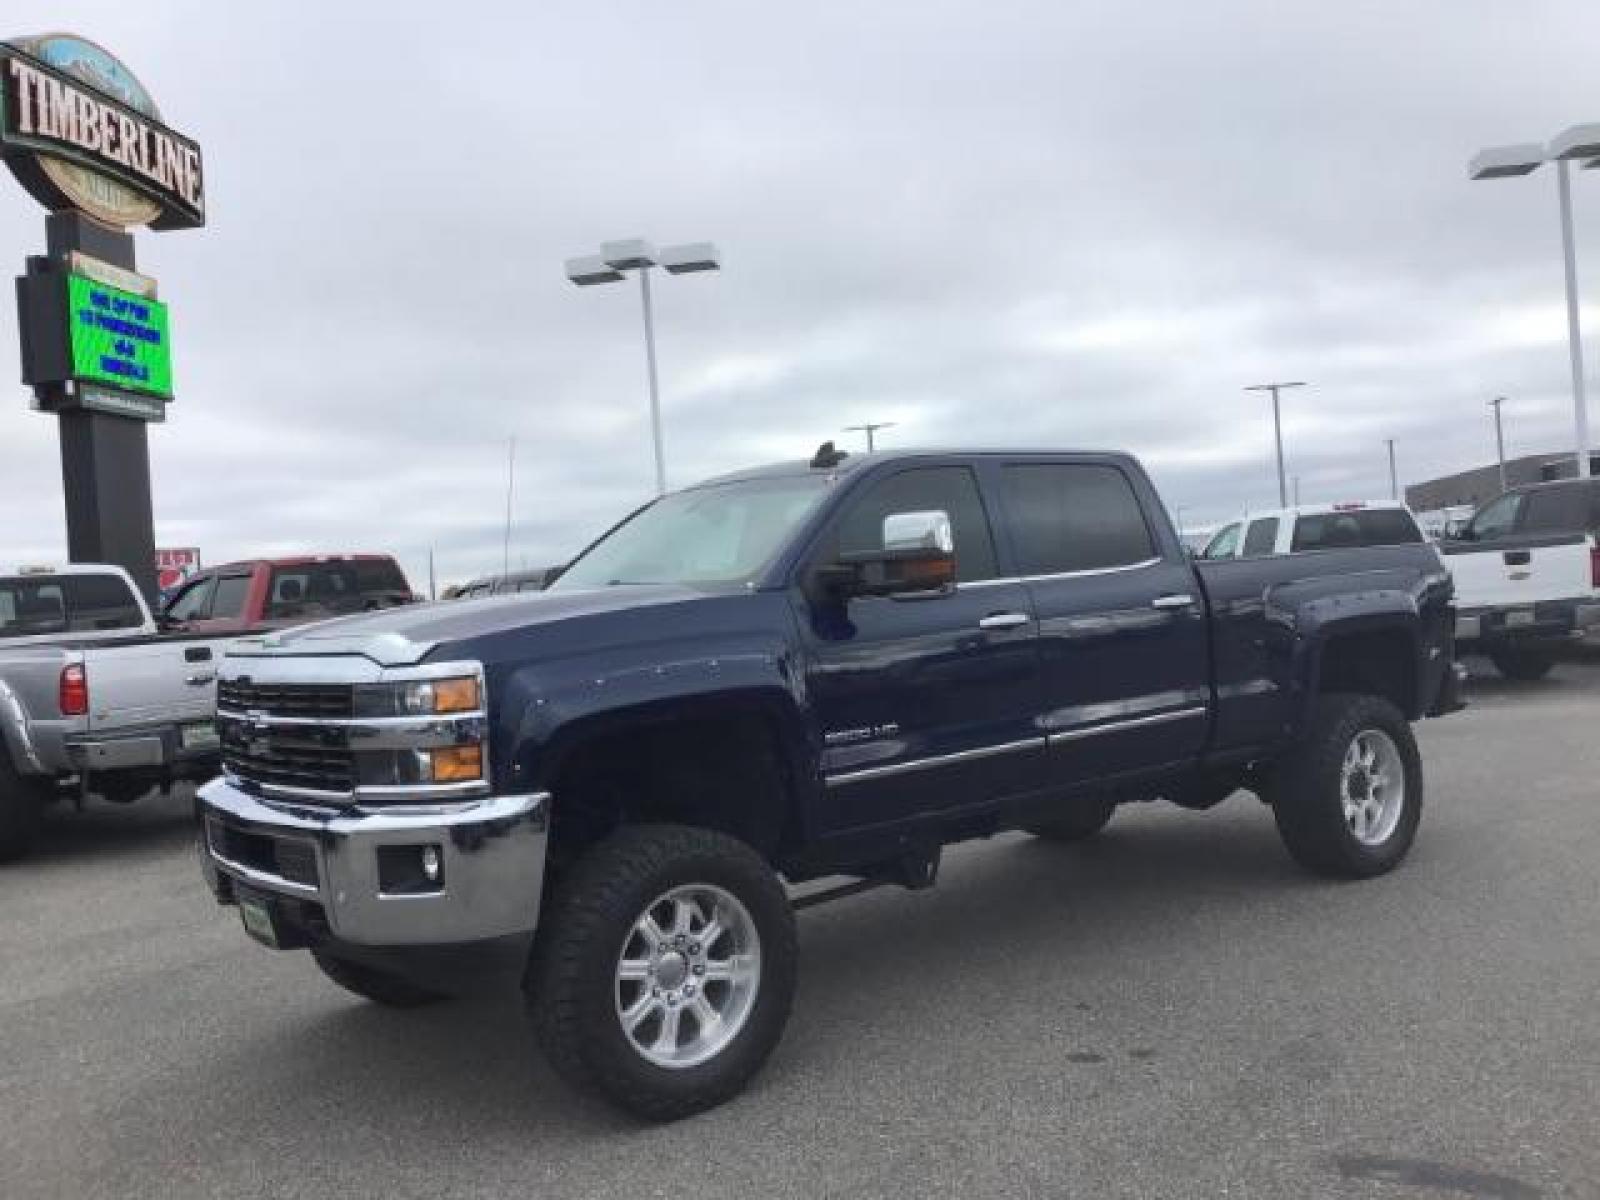
<svg viewBox="0 0 1600 1200">
<path fill-rule="evenodd" d="M 437 998 L 427 947 L 523 939 L 558 1070 L 672 1118 L 778 1042 L 798 904 L 925 886 L 950 842 L 1248 789 L 1306 867 L 1389 870 L 1453 622 L 1429 546 L 1190 562 L 1122 454 L 824 446 L 547 592 L 235 643 L 203 862 L 379 1003 Z"/>
</svg>

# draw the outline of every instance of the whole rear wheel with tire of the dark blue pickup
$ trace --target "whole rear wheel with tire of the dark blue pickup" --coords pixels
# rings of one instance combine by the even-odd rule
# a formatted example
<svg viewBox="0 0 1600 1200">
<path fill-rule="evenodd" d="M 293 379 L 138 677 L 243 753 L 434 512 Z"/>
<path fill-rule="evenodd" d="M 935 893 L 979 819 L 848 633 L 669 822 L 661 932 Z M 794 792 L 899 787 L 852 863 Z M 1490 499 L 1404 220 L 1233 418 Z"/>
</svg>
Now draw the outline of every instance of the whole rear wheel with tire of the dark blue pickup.
<svg viewBox="0 0 1600 1200">
<path fill-rule="evenodd" d="M 1338 878 L 1392 870 L 1422 819 L 1411 725 L 1378 696 L 1322 696 L 1267 798 L 1283 845 L 1307 870 Z"/>
</svg>

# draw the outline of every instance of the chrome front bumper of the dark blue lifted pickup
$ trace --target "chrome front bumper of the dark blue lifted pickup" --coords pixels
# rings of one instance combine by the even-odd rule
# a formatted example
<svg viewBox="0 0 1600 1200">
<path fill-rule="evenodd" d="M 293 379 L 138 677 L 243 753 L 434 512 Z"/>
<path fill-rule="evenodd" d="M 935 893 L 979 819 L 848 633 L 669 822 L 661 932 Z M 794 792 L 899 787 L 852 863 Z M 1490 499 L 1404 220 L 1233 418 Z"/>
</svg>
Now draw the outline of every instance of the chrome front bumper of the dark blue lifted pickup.
<svg viewBox="0 0 1600 1200">
<path fill-rule="evenodd" d="M 549 794 L 411 810 L 267 802 L 214 779 L 200 789 L 202 869 L 224 902 L 243 886 L 315 914 L 357 946 L 442 946 L 526 933 L 539 920 Z M 434 891 L 384 891 L 379 846 L 440 851 Z"/>
</svg>

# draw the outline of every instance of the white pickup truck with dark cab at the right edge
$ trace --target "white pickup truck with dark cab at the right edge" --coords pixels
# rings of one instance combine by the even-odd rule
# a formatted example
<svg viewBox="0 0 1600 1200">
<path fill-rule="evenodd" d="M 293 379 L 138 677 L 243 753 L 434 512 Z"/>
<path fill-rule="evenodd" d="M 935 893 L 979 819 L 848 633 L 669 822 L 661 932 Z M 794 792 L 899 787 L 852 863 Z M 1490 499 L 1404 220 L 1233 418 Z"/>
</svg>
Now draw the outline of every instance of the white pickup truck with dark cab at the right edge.
<svg viewBox="0 0 1600 1200">
<path fill-rule="evenodd" d="M 1542 678 L 1600 627 L 1600 480 L 1512 488 L 1440 542 L 1456 578 L 1462 650 L 1509 678 Z"/>
</svg>

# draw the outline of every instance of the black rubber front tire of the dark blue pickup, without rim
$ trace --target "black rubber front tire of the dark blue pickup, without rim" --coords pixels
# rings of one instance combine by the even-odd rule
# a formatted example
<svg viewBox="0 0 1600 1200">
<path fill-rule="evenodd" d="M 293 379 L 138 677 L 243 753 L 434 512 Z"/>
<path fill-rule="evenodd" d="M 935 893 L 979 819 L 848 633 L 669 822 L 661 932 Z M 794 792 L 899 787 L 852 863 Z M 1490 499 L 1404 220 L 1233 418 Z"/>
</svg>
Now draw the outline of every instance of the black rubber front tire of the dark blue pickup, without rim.
<svg viewBox="0 0 1600 1200">
<path fill-rule="evenodd" d="M 605 1054 L 594 1053 L 589 1021 L 597 1019 L 597 1014 L 584 1002 L 587 973 L 592 970 L 590 955 L 597 946 L 608 947 L 610 954 L 610 944 L 626 928 L 624 923 L 630 925 L 637 918 L 642 880 L 650 880 L 674 864 L 707 858 L 749 872 L 750 882 L 758 886 L 765 880 L 782 899 L 786 918 L 778 923 L 778 944 L 771 944 L 773 931 L 763 931 L 762 958 L 763 965 L 771 963 L 784 978 L 765 978 L 763 998 L 757 1002 L 776 1005 L 766 1018 L 776 1024 L 770 1037 L 774 1045 L 794 998 L 794 965 L 798 957 L 794 914 L 766 861 L 746 843 L 709 829 L 624 826 L 594 846 L 549 898 L 525 981 L 534 1034 L 555 1072 L 574 1088 L 598 1093 L 651 1122 L 678 1120 L 731 1099 L 771 1051 L 771 1045 L 757 1046 L 742 1069 L 720 1077 L 706 1072 L 694 1088 L 675 1088 L 670 1094 L 640 1088 L 629 1072 L 608 1062 Z M 741 899 L 749 902 L 747 898 Z M 610 1021 L 613 1016 L 606 1011 L 598 1019 Z M 755 1014 L 750 1019 L 754 1022 Z M 746 1032 L 752 1032 L 752 1027 Z M 725 1054 L 734 1053 L 734 1046 Z"/>
</svg>

